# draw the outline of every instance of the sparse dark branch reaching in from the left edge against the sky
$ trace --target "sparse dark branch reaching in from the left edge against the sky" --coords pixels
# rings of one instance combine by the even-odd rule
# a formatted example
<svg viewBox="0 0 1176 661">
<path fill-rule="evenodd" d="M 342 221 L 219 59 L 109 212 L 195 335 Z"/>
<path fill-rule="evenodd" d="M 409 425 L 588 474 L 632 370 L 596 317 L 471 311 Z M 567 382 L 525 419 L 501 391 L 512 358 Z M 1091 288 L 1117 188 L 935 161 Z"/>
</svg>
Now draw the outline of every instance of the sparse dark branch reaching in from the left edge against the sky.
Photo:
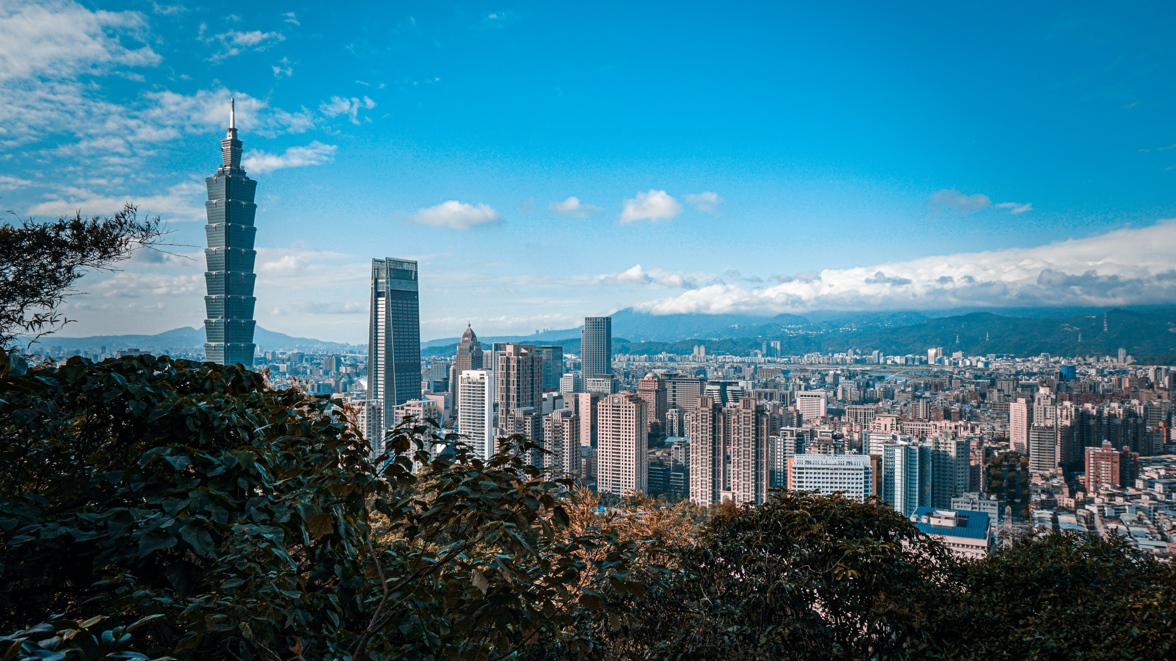
<svg viewBox="0 0 1176 661">
<path fill-rule="evenodd" d="M 127 205 L 112 216 L 32 219 L 0 226 L 0 347 L 19 335 L 53 333 L 67 320 L 56 311 L 92 269 L 113 268 L 163 234 L 158 218 L 139 220 Z"/>
</svg>

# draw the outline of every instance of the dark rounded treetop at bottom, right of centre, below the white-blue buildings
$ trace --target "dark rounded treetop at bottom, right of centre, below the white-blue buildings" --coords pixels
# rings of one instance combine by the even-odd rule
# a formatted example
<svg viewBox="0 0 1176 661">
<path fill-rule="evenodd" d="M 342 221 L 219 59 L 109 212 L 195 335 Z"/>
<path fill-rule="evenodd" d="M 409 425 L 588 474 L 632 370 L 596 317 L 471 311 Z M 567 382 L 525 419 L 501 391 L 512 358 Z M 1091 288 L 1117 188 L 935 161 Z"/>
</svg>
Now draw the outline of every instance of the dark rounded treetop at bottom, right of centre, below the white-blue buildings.
<svg viewBox="0 0 1176 661">
<path fill-rule="evenodd" d="M 730 501 L 724 501 L 724 505 Z M 876 501 L 776 492 L 716 508 L 668 576 L 586 614 L 609 659 L 898 657 L 930 645 L 953 559 Z"/>
</svg>

